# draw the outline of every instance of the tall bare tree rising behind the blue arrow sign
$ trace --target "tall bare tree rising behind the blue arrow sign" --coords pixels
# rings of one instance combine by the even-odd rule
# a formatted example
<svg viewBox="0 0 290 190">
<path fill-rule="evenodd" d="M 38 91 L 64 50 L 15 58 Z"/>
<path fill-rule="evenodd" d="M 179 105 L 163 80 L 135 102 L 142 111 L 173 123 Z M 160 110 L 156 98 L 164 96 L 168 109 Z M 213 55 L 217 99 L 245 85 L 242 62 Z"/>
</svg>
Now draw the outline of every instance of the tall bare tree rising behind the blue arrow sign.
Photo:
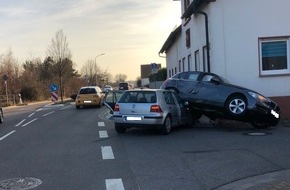
<svg viewBox="0 0 290 190">
<path fill-rule="evenodd" d="M 69 76 L 68 72 L 72 71 L 72 54 L 68 47 L 66 36 L 63 34 L 62 30 L 56 32 L 55 38 L 51 40 L 51 44 L 48 46 L 46 54 L 53 60 L 55 71 L 59 78 L 61 102 L 63 102 L 64 77 Z"/>
</svg>

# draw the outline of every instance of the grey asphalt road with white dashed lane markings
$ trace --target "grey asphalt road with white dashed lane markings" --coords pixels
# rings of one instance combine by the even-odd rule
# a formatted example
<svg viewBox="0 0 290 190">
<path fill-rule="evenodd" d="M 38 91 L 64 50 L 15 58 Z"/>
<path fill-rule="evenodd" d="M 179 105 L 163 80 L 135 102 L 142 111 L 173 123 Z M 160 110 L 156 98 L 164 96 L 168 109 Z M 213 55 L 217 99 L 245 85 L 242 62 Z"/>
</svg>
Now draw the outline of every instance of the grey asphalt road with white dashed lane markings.
<svg viewBox="0 0 290 190">
<path fill-rule="evenodd" d="M 237 189 L 241 180 L 290 169 L 288 127 L 202 121 L 165 136 L 119 135 L 106 112 L 70 103 L 4 110 L 0 190 Z"/>
</svg>

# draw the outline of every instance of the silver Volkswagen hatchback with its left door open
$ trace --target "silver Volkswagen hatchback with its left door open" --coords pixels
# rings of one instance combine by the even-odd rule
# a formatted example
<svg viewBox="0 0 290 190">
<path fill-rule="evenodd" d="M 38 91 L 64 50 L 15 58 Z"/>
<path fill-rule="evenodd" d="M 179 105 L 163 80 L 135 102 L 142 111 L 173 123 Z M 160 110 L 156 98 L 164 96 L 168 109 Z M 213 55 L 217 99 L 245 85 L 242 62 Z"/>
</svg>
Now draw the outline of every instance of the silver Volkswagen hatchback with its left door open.
<svg viewBox="0 0 290 190">
<path fill-rule="evenodd" d="M 120 94 L 120 91 L 118 91 Z M 163 134 L 171 132 L 172 127 L 192 125 L 190 110 L 178 95 L 170 90 L 134 89 L 124 91 L 116 103 L 116 92 L 108 92 L 105 105 L 110 104 L 115 129 L 124 133 L 131 127 L 155 127 Z"/>
</svg>

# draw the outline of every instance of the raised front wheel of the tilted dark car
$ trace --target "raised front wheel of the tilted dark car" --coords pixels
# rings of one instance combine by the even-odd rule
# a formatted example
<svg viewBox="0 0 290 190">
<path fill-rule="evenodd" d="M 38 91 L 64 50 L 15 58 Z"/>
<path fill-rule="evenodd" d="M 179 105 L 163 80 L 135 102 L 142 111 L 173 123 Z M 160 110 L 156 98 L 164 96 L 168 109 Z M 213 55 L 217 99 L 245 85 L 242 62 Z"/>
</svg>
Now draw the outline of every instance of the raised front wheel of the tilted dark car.
<svg viewBox="0 0 290 190">
<path fill-rule="evenodd" d="M 241 117 L 246 113 L 247 101 L 243 96 L 233 96 L 228 99 L 226 109 L 230 116 Z"/>
</svg>

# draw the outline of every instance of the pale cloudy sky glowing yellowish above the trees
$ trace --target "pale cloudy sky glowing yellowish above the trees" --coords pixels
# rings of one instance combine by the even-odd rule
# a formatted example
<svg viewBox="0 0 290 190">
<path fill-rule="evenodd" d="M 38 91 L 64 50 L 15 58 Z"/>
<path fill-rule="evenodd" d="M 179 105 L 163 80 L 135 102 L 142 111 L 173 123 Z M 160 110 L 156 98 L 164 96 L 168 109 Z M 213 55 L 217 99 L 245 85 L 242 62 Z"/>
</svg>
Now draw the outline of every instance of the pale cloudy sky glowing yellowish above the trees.
<svg viewBox="0 0 290 190">
<path fill-rule="evenodd" d="M 19 64 L 43 61 L 62 30 L 76 70 L 94 60 L 113 77 L 136 80 L 140 65 L 166 67 L 158 52 L 180 17 L 173 0 L 0 0 L 0 55 L 11 49 Z"/>
</svg>

